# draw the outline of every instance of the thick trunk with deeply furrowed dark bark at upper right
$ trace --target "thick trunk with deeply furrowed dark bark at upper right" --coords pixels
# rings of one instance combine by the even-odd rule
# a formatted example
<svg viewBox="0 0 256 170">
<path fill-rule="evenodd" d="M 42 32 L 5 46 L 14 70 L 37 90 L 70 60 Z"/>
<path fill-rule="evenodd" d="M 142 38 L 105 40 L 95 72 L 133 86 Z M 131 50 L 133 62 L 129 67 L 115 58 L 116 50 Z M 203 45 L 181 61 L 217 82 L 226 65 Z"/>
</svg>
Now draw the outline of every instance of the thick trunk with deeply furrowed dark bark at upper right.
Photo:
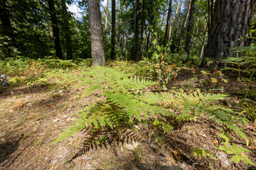
<svg viewBox="0 0 256 170">
<path fill-rule="evenodd" d="M 233 57 L 230 47 L 248 45 L 246 35 L 250 31 L 254 8 L 255 0 L 216 0 L 205 57 L 215 60 Z M 201 66 L 206 63 L 202 62 Z"/>
</svg>

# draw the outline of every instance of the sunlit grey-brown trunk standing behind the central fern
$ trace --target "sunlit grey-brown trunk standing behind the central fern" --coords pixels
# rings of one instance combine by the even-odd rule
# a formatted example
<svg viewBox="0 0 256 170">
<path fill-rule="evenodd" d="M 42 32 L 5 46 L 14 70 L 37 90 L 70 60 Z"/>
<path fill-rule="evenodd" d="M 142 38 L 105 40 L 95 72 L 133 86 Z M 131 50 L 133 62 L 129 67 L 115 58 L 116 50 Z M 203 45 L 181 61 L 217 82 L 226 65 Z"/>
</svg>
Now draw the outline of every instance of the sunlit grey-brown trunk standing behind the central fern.
<svg viewBox="0 0 256 170">
<path fill-rule="evenodd" d="M 88 0 L 92 65 L 105 66 L 100 0 Z"/>
</svg>

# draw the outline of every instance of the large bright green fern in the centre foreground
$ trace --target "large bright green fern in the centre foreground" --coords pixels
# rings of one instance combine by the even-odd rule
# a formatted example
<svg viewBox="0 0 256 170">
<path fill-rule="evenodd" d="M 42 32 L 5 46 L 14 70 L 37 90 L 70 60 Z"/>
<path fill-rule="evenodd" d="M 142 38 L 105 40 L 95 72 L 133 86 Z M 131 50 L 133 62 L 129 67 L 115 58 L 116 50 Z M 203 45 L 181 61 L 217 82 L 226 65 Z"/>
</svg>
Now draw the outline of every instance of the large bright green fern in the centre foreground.
<svg viewBox="0 0 256 170">
<path fill-rule="evenodd" d="M 154 81 L 133 77 L 132 74 L 119 72 L 114 68 L 99 66 L 93 67 L 88 72 L 82 72 L 75 79 L 70 79 L 73 79 L 70 82 L 81 81 L 77 86 L 90 85 L 82 93 L 82 98 L 100 89 L 106 101 L 98 102 L 85 108 L 85 111 L 80 111 L 80 118 L 75 120 L 75 125 L 71 125 L 51 145 L 87 126 L 94 125 L 98 128 L 107 125 L 115 129 L 119 136 L 122 126 L 133 125 L 133 118 L 140 123 L 142 116 L 148 118 L 148 114 L 153 117 L 155 114 L 171 115 L 164 107 L 156 105 L 160 99 L 157 94 L 152 94 L 149 98 L 149 95 L 146 96 L 142 92 L 142 89 L 156 84 Z"/>
</svg>

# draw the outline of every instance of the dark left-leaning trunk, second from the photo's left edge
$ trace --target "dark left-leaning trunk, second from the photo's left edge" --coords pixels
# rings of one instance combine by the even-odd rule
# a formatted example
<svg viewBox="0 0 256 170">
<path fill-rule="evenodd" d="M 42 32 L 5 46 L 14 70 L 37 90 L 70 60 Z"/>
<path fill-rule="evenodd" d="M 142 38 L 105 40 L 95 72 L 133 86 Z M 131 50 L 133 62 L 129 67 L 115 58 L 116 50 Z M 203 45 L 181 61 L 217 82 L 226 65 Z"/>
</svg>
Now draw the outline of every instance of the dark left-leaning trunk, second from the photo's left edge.
<svg viewBox="0 0 256 170">
<path fill-rule="evenodd" d="M 60 46 L 58 20 L 57 20 L 57 16 L 56 16 L 54 1 L 48 0 L 48 5 L 49 5 L 49 11 L 50 11 L 50 21 L 51 21 L 51 25 L 53 28 L 53 40 L 54 40 L 54 44 L 55 44 L 56 57 L 63 60 L 63 53 L 61 51 L 61 46 Z"/>
</svg>

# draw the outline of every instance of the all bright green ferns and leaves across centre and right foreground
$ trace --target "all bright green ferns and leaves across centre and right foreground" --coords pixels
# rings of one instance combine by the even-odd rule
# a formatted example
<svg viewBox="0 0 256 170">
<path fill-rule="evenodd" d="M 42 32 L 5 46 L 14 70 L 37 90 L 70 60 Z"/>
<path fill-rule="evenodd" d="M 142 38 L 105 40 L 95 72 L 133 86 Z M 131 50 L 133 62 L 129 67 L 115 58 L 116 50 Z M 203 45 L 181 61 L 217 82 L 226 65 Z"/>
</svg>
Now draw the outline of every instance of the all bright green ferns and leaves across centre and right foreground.
<svg viewBox="0 0 256 170">
<path fill-rule="evenodd" d="M 225 100 L 225 94 L 203 94 L 196 89 L 189 94 L 182 90 L 166 91 L 163 93 L 153 92 L 151 86 L 156 81 L 144 77 L 136 77 L 134 73 L 119 71 L 117 68 L 92 67 L 75 77 L 68 78 L 71 82 L 78 81 L 76 86 L 87 86 L 81 94 L 81 98 L 97 91 L 105 97 L 105 100 L 87 106 L 78 114 L 74 124 L 63 130 L 60 136 L 50 145 L 74 135 L 78 130 L 84 128 L 113 130 L 117 134 L 117 143 L 120 142 L 120 132 L 125 129 L 132 129 L 134 125 L 143 123 L 142 120 L 152 121 L 153 125 L 164 128 L 164 132 L 174 130 L 177 127 L 161 121 L 161 118 L 169 117 L 169 120 L 179 122 L 196 121 L 201 116 L 206 116 L 220 124 L 221 130 L 218 136 L 221 138 L 216 153 L 219 150 L 232 156 L 234 162 L 244 162 L 255 165 L 250 161 L 244 149 L 233 142 L 230 131 L 242 137 L 247 146 L 249 139 L 242 132 L 241 125 L 248 123 L 245 117 L 238 110 L 225 108 L 218 102 Z M 198 157 L 210 156 L 215 160 L 216 154 L 211 154 L 206 149 L 195 148 L 194 154 Z M 212 165 L 210 165 L 212 168 Z"/>
</svg>

